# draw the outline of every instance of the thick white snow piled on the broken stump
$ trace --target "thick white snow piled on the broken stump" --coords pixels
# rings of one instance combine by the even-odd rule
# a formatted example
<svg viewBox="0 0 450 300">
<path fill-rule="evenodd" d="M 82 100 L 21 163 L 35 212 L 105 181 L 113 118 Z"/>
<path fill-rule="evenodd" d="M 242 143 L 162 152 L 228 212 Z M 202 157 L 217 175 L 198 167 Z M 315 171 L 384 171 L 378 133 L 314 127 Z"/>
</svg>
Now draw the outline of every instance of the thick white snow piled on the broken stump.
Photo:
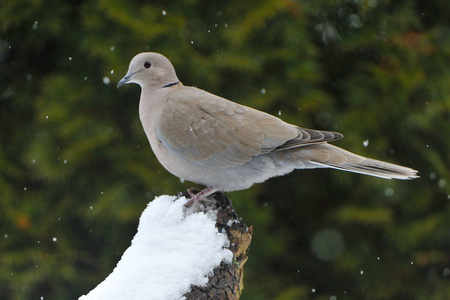
<svg viewBox="0 0 450 300">
<path fill-rule="evenodd" d="M 216 213 L 192 213 L 184 203 L 174 196 L 150 202 L 116 268 L 79 300 L 183 299 L 191 285 L 205 286 L 222 261 L 231 263 L 228 238 L 215 227 Z"/>
</svg>

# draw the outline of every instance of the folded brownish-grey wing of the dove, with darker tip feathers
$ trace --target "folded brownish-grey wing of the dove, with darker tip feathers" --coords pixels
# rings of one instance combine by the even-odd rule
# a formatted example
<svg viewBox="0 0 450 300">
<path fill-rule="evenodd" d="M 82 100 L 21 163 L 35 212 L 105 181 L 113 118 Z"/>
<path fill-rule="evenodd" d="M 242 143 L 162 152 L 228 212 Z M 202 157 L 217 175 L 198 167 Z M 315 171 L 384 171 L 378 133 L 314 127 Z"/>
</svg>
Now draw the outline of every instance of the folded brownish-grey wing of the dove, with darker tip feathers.
<svg viewBox="0 0 450 300">
<path fill-rule="evenodd" d="M 342 137 L 299 128 L 192 87 L 168 96 L 156 135 L 173 154 L 212 168 L 235 167 L 260 154 Z"/>
</svg>

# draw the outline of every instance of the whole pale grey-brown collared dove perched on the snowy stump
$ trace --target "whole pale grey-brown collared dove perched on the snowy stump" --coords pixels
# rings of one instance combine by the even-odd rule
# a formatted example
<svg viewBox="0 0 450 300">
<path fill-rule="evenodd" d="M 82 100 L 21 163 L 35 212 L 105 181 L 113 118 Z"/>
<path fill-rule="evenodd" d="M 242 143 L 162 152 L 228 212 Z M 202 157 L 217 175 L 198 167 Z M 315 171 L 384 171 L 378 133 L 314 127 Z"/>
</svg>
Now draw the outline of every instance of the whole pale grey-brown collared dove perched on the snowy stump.
<svg viewBox="0 0 450 300">
<path fill-rule="evenodd" d="M 178 79 L 168 58 L 136 55 L 117 88 L 141 87 L 139 117 L 158 161 L 173 175 L 206 188 L 189 203 L 217 192 L 247 189 L 295 169 L 333 168 L 386 179 L 418 171 L 366 158 L 330 144 L 338 132 L 313 130 L 241 105 Z"/>
</svg>

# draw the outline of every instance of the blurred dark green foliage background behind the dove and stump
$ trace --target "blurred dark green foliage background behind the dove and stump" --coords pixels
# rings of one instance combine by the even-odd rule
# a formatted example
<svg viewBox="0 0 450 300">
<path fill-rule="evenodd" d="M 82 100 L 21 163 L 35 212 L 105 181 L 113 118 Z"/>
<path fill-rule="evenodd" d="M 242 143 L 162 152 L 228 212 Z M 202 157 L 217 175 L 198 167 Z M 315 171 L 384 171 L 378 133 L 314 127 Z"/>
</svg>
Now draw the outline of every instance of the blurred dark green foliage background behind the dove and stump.
<svg viewBox="0 0 450 300">
<path fill-rule="evenodd" d="M 76 299 L 146 204 L 191 187 L 116 89 L 139 52 L 413 181 L 304 170 L 230 193 L 254 226 L 244 300 L 450 299 L 448 0 L 0 3 L 0 299 Z M 41 298 L 43 297 L 43 298 Z"/>
</svg>

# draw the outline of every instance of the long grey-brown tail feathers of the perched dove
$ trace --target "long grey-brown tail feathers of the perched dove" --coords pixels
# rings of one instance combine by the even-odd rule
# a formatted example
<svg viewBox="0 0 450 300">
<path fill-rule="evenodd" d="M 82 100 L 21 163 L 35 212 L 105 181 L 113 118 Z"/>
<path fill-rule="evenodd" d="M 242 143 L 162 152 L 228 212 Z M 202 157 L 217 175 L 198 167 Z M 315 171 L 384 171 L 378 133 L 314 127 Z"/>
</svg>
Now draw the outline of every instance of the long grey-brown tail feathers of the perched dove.
<svg viewBox="0 0 450 300">
<path fill-rule="evenodd" d="M 298 159 L 318 167 L 333 168 L 386 179 L 418 178 L 417 171 L 384 161 L 356 155 L 342 148 L 327 144 L 313 144 L 298 148 Z"/>
</svg>

